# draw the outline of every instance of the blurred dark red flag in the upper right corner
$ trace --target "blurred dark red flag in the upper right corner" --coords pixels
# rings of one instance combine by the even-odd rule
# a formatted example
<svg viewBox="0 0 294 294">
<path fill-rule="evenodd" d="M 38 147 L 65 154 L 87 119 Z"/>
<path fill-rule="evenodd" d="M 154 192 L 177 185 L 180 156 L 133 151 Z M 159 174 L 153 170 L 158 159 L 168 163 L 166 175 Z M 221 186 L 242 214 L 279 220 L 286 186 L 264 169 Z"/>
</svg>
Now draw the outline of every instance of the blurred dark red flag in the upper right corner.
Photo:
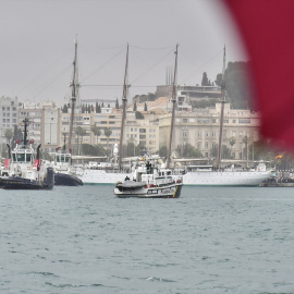
<svg viewBox="0 0 294 294">
<path fill-rule="evenodd" d="M 253 64 L 261 135 L 294 150 L 294 1 L 223 0 Z"/>
</svg>

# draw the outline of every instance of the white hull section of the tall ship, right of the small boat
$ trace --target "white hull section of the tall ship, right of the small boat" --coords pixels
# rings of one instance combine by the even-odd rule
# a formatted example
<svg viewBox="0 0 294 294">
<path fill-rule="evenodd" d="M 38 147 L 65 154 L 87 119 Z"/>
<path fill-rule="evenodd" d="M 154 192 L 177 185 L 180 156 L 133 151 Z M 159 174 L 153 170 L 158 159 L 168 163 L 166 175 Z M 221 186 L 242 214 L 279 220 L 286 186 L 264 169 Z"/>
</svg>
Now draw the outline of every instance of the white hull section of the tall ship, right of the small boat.
<svg viewBox="0 0 294 294">
<path fill-rule="evenodd" d="M 191 186 L 258 186 L 270 175 L 270 171 L 187 172 L 183 175 L 183 184 Z"/>
</svg>

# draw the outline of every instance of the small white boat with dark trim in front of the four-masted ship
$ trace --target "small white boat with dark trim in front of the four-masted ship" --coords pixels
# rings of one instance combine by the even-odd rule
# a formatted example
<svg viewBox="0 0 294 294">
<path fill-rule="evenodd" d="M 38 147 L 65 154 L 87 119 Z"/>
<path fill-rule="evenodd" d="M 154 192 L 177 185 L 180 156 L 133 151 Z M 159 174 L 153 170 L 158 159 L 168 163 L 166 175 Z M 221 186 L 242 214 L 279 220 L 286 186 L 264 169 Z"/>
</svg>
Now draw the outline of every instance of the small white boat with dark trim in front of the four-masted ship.
<svg viewBox="0 0 294 294">
<path fill-rule="evenodd" d="M 172 176 L 170 169 L 157 169 L 143 163 L 135 169 L 133 179 L 125 177 L 114 188 L 118 198 L 179 198 L 183 186 L 182 176 Z"/>
</svg>

